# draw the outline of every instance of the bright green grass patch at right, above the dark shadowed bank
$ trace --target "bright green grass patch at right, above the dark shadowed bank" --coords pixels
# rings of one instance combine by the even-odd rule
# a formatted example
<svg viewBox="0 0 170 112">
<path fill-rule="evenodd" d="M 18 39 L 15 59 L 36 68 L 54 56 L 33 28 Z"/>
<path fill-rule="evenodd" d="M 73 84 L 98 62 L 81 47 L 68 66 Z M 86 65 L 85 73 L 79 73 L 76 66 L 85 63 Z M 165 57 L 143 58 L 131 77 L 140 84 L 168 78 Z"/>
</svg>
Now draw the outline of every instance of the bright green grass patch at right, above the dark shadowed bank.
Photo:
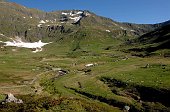
<svg viewBox="0 0 170 112">
<path fill-rule="evenodd" d="M 128 61 L 125 61 L 123 63 L 118 62 L 119 64 L 118 65 L 116 64 L 117 65 L 116 68 L 113 68 L 112 70 L 110 68 L 110 71 L 104 74 L 105 76 L 110 76 L 127 83 L 135 83 L 143 86 L 151 86 L 154 88 L 158 87 L 158 88 L 169 89 L 170 86 L 169 64 L 164 65 L 164 63 L 160 61 L 155 61 L 155 62 L 154 61 L 146 62 L 146 61 L 148 60 L 142 59 L 141 61 L 137 61 L 137 60 L 134 62 L 130 61 L 130 63 Z M 149 64 L 149 67 L 145 68 L 147 64 Z M 121 67 L 122 70 L 118 66 L 120 67 L 122 66 Z"/>
</svg>

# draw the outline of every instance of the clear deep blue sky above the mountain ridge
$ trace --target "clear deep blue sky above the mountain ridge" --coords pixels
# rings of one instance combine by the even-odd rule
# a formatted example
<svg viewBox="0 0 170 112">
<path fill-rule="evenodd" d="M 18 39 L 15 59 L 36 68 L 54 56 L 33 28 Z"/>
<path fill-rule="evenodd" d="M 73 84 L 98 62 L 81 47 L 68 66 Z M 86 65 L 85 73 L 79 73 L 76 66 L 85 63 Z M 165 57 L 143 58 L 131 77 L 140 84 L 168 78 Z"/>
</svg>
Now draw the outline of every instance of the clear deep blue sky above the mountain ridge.
<svg viewBox="0 0 170 112">
<path fill-rule="evenodd" d="M 170 20 L 170 0 L 8 0 L 46 12 L 89 10 L 119 22 L 154 24 Z"/>
</svg>

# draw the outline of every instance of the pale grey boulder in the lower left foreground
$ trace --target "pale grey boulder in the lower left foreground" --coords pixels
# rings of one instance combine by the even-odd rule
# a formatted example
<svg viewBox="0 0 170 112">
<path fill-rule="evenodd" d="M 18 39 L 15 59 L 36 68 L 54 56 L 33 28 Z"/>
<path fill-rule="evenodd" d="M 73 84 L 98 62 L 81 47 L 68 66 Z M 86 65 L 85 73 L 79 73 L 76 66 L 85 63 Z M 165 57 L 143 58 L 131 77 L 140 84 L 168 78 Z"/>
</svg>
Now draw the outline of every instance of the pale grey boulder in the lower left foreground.
<svg viewBox="0 0 170 112">
<path fill-rule="evenodd" d="M 21 99 L 17 99 L 14 97 L 13 94 L 9 93 L 6 98 L 5 98 L 5 103 L 10 103 L 10 102 L 14 102 L 14 103 L 23 103 L 23 101 Z"/>
</svg>

